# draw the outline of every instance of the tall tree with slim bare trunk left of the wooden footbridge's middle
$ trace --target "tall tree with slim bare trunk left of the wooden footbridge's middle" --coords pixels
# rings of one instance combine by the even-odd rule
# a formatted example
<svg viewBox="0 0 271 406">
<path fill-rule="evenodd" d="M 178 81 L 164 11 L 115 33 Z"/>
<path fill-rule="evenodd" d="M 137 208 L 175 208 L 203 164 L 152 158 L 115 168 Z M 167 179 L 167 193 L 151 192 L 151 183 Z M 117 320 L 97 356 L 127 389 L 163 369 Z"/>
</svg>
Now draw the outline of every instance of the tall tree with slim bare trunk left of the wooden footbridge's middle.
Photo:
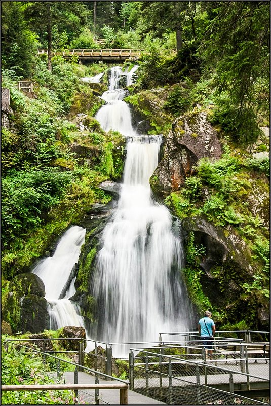
<svg viewBox="0 0 271 406">
<path fill-rule="evenodd" d="M 89 12 L 81 2 L 27 2 L 25 18 L 40 35 L 47 33 L 48 70 L 52 70 L 52 29 L 55 25 L 80 28 L 86 23 Z M 63 30 L 64 30 L 63 27 Z"/>
</svg>

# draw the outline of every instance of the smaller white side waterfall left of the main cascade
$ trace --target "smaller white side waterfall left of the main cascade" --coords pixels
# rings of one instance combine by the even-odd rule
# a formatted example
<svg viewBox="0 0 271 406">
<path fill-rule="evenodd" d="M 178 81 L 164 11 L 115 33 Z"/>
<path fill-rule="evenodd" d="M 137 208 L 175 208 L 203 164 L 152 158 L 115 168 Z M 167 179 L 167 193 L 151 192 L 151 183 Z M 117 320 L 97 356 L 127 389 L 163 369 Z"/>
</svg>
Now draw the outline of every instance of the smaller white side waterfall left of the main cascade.
<svg viewBox="0 0 271 406">
<path fill-rule="evenodd" d="M 84 327 L 80 307 L 70 301 L 75 292 L 74 266 L 85 242 L 86 229 L 70 227 L 59 240 L 54 255 L 38 261 L 32 272 L 45 285 L 45 299 L 49 305 L 50 328 Z"/>
</svg>

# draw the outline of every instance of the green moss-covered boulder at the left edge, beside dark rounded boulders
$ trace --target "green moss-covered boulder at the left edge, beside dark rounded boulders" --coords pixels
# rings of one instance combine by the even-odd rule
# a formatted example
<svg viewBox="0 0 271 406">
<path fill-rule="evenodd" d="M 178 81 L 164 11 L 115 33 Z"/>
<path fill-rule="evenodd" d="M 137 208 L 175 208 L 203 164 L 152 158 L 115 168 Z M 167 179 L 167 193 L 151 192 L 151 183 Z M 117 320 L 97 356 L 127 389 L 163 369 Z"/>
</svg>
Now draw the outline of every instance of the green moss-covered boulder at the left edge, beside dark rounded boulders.
<svg viewBox="0 0 271 406">
<path fill-rule="evenodd" d="M 15 283 L 2 280 L 1 293 L 2 320 L 10 324 L 13 333 L 17 333 L 20 329 L 23 291 Z"/>
</svg>

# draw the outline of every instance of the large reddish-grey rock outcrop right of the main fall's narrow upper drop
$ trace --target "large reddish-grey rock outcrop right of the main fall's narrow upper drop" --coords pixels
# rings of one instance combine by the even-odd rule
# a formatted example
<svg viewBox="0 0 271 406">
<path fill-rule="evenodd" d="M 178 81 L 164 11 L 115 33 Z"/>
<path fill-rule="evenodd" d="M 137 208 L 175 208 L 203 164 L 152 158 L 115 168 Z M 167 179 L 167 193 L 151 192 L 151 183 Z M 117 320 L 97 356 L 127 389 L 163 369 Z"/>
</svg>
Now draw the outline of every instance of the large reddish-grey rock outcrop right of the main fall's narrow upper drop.
<svg viewBox="0 0 271 406">
<path fill-rule="evenodd" d="M 163 159 L 150 178 L 154 194 L 163 197 L 178 190 L 200 158 L 215 160 L 221 154 L 217 133 L 205 112 L 177 118 L 165 140 Z"/>
</svg>

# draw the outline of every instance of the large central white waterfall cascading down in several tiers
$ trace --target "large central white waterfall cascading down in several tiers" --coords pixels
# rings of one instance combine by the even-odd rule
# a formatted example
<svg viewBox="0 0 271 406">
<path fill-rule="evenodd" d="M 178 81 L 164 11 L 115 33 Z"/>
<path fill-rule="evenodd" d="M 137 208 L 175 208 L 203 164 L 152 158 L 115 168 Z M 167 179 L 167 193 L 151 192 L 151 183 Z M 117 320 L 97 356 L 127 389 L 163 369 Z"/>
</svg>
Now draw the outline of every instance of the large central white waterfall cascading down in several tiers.
<svg viewBox="0 0 271 406">
<path fill-rule="evenodd" d="M 95 338 L 104 342 L 157 341 L 161 331 L 186 330 L 187 296 L 180 269 L 183 252 L 168 209 L 151 196 L 149 178 L 159 162 L 161 136 L 132 128 L 123 72 L 112 69 L 108 102 L 96 115 L 101 127 L 127 137 L 124 180 L 117 210 L 102 235 L 91 293 L 97 298 Z M 130 80 L 130 79 L 129 79 Z M 94 337 L 93 337 L 94 338 Z M 114 355 L 127 355 L 119 346 Z"/>
</svg>

